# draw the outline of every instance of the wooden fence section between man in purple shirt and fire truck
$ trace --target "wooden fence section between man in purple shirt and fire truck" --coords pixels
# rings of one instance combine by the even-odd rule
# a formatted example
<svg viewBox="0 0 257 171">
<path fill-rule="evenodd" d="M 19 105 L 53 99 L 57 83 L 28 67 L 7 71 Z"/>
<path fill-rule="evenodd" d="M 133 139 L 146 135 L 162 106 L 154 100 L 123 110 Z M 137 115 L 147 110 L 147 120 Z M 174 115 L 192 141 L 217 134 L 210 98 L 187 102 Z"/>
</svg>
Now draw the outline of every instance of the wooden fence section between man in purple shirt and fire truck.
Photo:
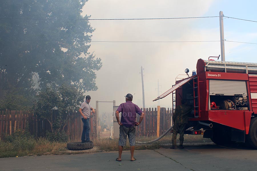
<svg viewBox="0 0 257 171">
<path fill-rule="evenodd" d="M 141 109 L 143 110 L 143 109 Z M 136 127 L 136 136 L 137 137 L 151 137 L 157 135 L 157 108 L 146 108 L 144 109 L 145 117 L 143 121 Z M 139 121 L 140 117 L 137 117 Z M 160 126 L 159 126 L 159 135 L 162 135 L 167 131 L 172 125 L 172 110 L 165 107 L 160 108 Z M 172 133 L 167 133 L 170 135 Z"/>
</svg>

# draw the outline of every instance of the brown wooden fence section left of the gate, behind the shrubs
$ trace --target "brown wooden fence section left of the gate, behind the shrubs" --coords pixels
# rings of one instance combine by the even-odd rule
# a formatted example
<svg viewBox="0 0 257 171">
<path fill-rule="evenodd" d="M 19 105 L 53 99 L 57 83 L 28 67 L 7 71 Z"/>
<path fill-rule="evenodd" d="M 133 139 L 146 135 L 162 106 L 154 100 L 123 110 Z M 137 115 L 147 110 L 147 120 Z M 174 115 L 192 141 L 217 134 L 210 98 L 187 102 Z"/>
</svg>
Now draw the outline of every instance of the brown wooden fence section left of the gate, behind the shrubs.
<svg viewBox="0 0 257 171">
<path fill-rule="evenodd" d="M 55 113 L 53 111 L 53 113 Z M 56 112 L 57 113 L 57 112 Z M 95 115 L 93 115 L 95 117 Z M 53 120 L 55 115 L 53 114 Z M 90 118 L 91 128 L 93 128 L 93 117 Z M 17 130 L 27 130 L 35 137 L 45 137 L 46 131 L 51 131 L 50 124 L 45 119 L 39 119 L 31 111 L 1 111 L 0 113 L 0 139 L 4 135 L 11 135 Z M 68 123 L 64 131 L 69 135 L 70 141 L 81 141 L 83 123 L 79 112 L 69 114 Z M 94 138 L 91 129 L 91 139 Z"/>
</svg>

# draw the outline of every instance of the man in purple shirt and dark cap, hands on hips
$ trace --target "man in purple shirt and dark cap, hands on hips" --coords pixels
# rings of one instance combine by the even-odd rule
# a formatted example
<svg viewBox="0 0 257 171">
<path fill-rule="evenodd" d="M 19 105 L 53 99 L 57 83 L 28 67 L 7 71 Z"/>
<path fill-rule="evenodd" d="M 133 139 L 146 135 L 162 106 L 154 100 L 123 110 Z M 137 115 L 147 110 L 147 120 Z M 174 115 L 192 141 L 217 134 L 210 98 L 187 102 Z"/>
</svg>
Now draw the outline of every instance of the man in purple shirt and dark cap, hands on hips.
<svg viewBox="0 0 257 171">
<path fill-rule="evenodd" d="M 135 130 L 136 126 L 138 126 L 143 118 L 144 113 L 142 110 L 132 103 L 133 95 L 127 94 L 126 96 L 126 103 L 121 103 L 116 111 L 116 119 L 118 124 L 120 125 L 120 138 L 119 138 L 119 157 L 116 158 L 116 161 L 121 161 L 121 153 L 123 150 L 123 146 L 126 145 L 127 142 L 127 135 L 128 140 L 130 143 L 130 154 L 131 158 L 130 161 L 135 161 L 134 158 L 134 150 L 135 150 Z M 119 119 L 119 113 L 121 112 L 121 121 Z M 140 115 L 139 122 L 136 122 L 136 114 Z"/>
</svg>

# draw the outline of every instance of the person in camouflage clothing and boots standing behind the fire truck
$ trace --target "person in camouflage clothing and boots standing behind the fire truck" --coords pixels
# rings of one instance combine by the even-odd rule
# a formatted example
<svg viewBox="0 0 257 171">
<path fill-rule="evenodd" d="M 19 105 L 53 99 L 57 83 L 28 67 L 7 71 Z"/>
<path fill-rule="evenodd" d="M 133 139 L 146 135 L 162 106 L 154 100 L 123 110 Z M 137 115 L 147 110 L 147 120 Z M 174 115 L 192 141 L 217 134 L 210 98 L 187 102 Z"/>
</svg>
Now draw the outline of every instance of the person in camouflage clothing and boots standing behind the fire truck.
<svg viewBox="0 0 257 171">
<path fill-rule="evenodd" d="M 173 114 L 173 134 L 172 134 L 172 149 L 177 148 L 177 134 L 179 133 L 179 148 L 182 149 L 184 141 L 184 131 L 186 129 L 186 124 L 188 123 L 188 114 L 192 110 L 192 107 L 187 105 L 187 101 L 182 99 L 182 105 L 178 105 Z"/>
</svg>

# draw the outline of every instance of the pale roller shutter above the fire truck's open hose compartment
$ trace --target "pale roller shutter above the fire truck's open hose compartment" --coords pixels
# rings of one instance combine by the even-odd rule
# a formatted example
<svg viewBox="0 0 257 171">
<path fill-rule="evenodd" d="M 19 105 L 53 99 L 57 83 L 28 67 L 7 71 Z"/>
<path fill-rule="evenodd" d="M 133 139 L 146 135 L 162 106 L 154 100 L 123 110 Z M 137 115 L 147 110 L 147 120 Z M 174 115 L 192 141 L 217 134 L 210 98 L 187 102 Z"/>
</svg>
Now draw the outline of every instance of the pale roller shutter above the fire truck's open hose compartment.
<svg viewBox="0 0 257 171">
<path fill-rule="evenodd" d="M 243 95 L 247 96 L 246 82 L 235 80 L 210 80 L 210 95 Z"/>
</svg>

